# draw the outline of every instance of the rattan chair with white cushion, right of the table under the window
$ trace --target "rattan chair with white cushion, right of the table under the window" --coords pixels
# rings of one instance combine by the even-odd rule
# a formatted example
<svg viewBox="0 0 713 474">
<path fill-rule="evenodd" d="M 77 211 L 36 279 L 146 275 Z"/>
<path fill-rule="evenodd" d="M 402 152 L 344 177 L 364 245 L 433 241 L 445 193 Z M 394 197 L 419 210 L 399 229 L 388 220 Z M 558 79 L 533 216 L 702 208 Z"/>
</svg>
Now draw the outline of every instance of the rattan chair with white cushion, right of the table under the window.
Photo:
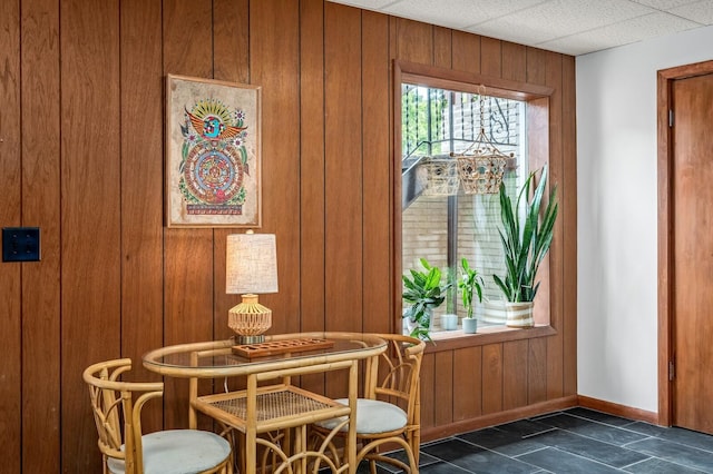
<svg viewBox="0 0 713 474">
<path fill-rule="evenodd" d="M 416 474 L 421 441 L 419 375 L 426 343 L 397 334 L 378 336 L 388 340 L 390 348 L 379 356 L 378 364 L 368 367 L 365 395 L 356 402 L 356 440 L 361 445 L 356 461 L 369 460 L 372 474 L 378 461 Z M 339 422 L 315 423 L 314 434 L 323 437 Z M 343 427 L 342 433 L 345 431 Z M 407 462 L 385 456 L 381 452 L 384 445 L 403 448 Z"/>
</svg>

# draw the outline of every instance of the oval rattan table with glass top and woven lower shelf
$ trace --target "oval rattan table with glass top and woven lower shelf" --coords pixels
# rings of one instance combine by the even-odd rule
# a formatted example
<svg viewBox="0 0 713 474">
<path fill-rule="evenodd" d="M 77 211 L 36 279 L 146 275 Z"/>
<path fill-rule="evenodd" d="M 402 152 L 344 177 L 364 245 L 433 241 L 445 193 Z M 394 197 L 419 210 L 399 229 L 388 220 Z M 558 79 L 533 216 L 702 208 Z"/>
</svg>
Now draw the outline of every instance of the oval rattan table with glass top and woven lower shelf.
<svg viewBox="0 0 713 474">
<path fill-rule="evenodd" d="M 387 350 L 387 342 L 377 334 L 364 333 L 294 333 L 265 336 L 265 343 L 236 345 L 234 338 L 205 343 L 179 344 L 150 350 L 144 355 L 144 367 L 148 371 L 170 377 L 189 378 L 189 425 L 196 426 L 196 412 L 204 413 L 225 426 L 229 426 L 245 436 L 245 458 L 241 460 L 247 474 L 257 471 L 257 445 L 281 452 L 283 462 L 296 463 L 297 472 L 303 472 L 307 454 L 306 428 L 319 419 L 343 417 L 343 429 L 348 429 L 345 464 L 349 473 L 355 473 L 358 397 L 358 364 L 365 362 L 365 384 L 375 377 L 372 364 Z M 323 395 L 314 394 L 292 385 L 292 376 L 304 374 L 346 371 L 349 373 L 346 391 L 349 403 L 340 404 Z M 246 377 L 246 388 L 236 392 L 198 396 L 198 378 Z M 274 383 L 280 378 L 282 382 Z M 265 386 L 268 382 L 272 385 Z M 284 413 L 292 403 L 272 403 L 280 399 L 299 399 L 305 408 L 294 413 Z M 280 413 L 266 408 L 272 403 L 282 405 Z M 282 446 L 266 444 L 260 437 L 275 428 L 293 429 L 294 446 L 297 452 Z M 338 428 L 335 428 L 338 429 Z M 341 471 L 340 471 L 341 472 Z"/>
</svg>

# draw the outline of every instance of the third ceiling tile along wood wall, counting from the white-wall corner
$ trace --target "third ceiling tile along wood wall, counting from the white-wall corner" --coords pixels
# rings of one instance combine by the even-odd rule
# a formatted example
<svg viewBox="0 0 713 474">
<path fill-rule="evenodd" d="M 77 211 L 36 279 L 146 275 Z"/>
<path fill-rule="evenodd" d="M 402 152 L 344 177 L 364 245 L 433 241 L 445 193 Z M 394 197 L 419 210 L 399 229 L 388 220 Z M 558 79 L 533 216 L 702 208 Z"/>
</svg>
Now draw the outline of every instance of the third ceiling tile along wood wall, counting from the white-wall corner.
<svg viewBox="0 0 713 474">
<path fill-rule="evenodd" d="M 433 24 L 465 29 L 541 3 L 543 0 L 404 0 L 382 11 L 397 17 L 419 19 Z"/>
</svg>

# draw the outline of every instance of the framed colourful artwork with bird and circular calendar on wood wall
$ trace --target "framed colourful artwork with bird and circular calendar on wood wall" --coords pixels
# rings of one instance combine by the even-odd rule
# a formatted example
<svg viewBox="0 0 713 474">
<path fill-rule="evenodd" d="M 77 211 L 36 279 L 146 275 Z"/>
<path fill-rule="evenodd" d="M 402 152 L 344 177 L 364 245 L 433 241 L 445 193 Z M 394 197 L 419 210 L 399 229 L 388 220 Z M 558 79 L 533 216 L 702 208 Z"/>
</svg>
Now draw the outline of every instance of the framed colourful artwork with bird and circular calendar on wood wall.
<svg viewBox="0 0 713 474">
<path fill-rule="evenodd" d="M 261 89 L 166 76 L 166 225 L 261 227 Z"/>
</svg>

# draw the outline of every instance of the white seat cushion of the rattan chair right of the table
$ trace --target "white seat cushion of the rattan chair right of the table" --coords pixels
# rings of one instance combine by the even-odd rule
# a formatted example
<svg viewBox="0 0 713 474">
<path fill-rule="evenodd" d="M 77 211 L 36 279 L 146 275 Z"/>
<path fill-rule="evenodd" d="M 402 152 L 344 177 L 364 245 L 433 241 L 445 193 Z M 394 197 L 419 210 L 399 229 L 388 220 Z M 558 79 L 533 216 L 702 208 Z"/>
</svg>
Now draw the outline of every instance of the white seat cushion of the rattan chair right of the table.
<svg viewBox="0 0 713 474">
<path fill-rule="evenodd" d="M 339 398 L 336 402 L 349 405 L 349 398 Z M 339 417 L 315 424 L 326 429 L 334 429 L 334 427 L 344 419 L 345 417 Z M 403 428 L 406 423 L 406 412 L 392 403 L 369 398 L 356 399 L 356 433 L 374 434 L 392 432 Z M 341 431 L 345 432 L 348 428 L 345 425 Z"/>
</svg>

